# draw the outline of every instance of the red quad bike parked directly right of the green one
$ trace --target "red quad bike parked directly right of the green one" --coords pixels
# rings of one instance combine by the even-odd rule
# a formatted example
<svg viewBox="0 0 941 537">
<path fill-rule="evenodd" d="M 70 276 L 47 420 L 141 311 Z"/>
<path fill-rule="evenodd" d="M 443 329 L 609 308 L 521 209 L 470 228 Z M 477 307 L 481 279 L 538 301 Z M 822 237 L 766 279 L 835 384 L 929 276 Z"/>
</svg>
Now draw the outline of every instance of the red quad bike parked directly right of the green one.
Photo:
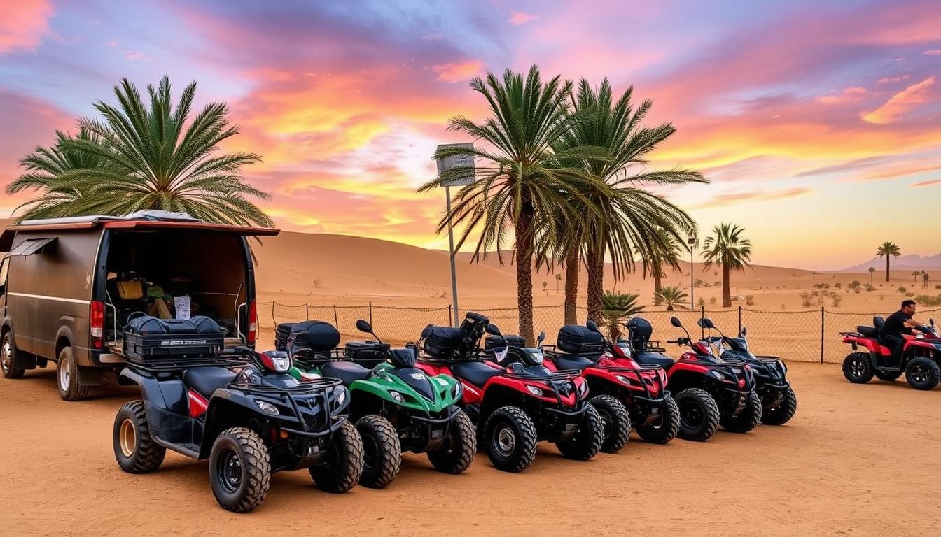
<svg viewBox="0 0 941 537">
<path fill-rule="evenodd" d="M 588 460 L 601 448 L 603 425 L 588 404 L 588 384 L 578 371 L 550 371 L 540 346 L 509 344 L 502 367 L 478 349 L 484 333 L 502 338 L 483 315 L 469 312 L 460 328 L 426 327 L 418 367 L 447 374 L 463 386 L 462 406 L 476 423 L 478 444 L 497 469 L 520 472 L 532 465 L 536 442 L 554 442 L 563 456 Z M 505 339 L 504 339 L 505 340 Z"/>
</svg>

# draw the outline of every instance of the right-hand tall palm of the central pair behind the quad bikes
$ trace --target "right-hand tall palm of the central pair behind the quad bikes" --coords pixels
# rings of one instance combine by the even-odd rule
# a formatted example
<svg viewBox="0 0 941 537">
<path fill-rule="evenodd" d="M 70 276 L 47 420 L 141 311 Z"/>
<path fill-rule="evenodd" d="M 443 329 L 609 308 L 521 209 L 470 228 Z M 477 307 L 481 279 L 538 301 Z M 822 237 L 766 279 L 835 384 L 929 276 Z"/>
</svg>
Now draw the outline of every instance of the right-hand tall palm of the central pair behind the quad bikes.
<svg viewBox="0 0 941 537">
<path fill-rule="evenodd" d="M 681 242 L 695 228 L 687 213 L 640 185 L 706 182 L 696 171 L 646 169 L 647 154 L 674 134 L 676 128 L 671 123 L 641 127 L 653 103 L 647 100 L 635 109 L 630 102 L 632 94 L 633 87 L 629 87 L 614 102 L 607 79 L 596 89 L 582 78 L 578 94 L 572 97 L 572 109 L 579 117 L 571 121 L 570 131 L 558 144 L 564 150 L 604 149 L 603 153 L 582 158 L 578 166 L 586 175 L 610 184 L 614 190 L 612 193 L 594 188 L 593 183 L 582 183 L 588 190 L 583 191 L 583 197 L 576 198 L 577 203 L 586 198 L 590 205 L 600 209 L 593 213 L 585 207 L 576 208 L 585 218 L 581 230 L 588 269 L 589 319 L 597 319 L 601 313 L 606 257 L 614 265 L 614 278 L 620 279 L 633 270 L 632 248 L 641 252 L 665 250 L 668 245 L 661 237 Z M 656 229 L 663 229 L 664 234 L 658 234 Z"/>
</svg>

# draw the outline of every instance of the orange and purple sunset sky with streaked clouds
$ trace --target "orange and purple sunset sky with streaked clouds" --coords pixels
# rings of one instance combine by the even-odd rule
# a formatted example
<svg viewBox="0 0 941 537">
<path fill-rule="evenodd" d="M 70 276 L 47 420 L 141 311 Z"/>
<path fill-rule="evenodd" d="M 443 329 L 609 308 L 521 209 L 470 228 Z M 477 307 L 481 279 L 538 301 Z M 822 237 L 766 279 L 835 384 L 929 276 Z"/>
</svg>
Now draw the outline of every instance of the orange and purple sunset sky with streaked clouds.
<svg viewBox="0 0 941 537">
<path fill-rule="evenodd" d="M 941 252 L 941 4 L 933 1 L 271 3 L 0 0 L 0 186 L 122 77 L 225 101 L 261 153 L 247 181 L 281 229 L 447 248 L 433 179 L 473 76 L 536 64 L 651 99 L 677 134 L 649 166 L 701 234 L 745 228 L 753 261 L 827 270 Z M 0 216 L 24 196 L 0 194 Z"/>
</svg>

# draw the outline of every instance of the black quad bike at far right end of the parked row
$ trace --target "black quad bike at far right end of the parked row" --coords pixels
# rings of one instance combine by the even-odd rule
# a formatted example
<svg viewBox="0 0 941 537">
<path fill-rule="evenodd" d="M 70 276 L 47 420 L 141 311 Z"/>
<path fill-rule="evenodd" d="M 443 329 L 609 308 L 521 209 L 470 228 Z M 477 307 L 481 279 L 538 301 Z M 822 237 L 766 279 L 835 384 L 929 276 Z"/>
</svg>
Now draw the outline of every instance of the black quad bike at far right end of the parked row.
<svg viewBox="0 0 941 537">
<path fill-rule="evenodd" d="M 709 318 L 700 319 L 699 326 L 719 332 L 707 341 L 715 345 L 716 353 L 726 361 L 743 361 L 755 375 L 755 391 L 761 398 L 761 422 L 765 425 L 784 425 L 797 412 L 797 394 L 788 382 L 788 366 L 776 356 L 756 356 L 748 350 L 748 329 L 742 326 L 738 338 L 728 338 Z"/>
</svg>

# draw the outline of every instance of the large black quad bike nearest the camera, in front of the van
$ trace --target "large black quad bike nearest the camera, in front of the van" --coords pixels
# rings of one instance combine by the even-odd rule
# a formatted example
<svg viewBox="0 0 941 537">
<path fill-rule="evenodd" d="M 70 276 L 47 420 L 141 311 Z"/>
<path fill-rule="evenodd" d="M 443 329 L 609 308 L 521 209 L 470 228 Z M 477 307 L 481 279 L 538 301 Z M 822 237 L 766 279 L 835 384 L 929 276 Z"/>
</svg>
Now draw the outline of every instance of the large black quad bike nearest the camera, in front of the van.
<svg viewBox="0 0 941 537">
<path fill-rule="evenodd" d="M 353 488 L 362 441 L 346 419 L 349 395 L 340 381 L 297 381 L 285 353 L 235 352 L 128 362 L 120 382 L 140 386 L 143 400 L 125 404 L 115 418 L 121 469 L 152 472 L 167 450 L 209 459 L 216 501 L 237 513 L 262 503 L 279 470 L 308 468 L 329 492 Z"/>
</svg>

